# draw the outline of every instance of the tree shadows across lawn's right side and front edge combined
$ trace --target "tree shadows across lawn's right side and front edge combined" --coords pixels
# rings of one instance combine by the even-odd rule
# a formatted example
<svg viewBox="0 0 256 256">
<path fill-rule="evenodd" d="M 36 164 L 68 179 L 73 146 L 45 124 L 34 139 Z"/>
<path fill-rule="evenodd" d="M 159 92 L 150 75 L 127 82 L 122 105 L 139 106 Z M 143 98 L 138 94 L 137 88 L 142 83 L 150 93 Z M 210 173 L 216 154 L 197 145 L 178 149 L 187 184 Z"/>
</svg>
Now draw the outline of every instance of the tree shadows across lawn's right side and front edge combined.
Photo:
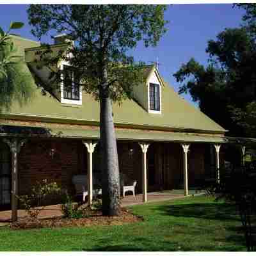
<svg viewBox="0 0 256 256">
<path fill-rule="evenodd" d="M 157 214 L 167 216 L 175 216 L 182 218 L 200 218 L 205 220 L 221 221 L 216 223 L 216 230 L 212 233 L 212 238 L 207 237 L 204 242 L 204 234 L 209 234 L 211 228 L 207 225 L 192 225 L 188 223 L 177 223 L 173 226 L 170 233 L 164 233 L 157 242 L 152 236 L 129 237 L 126 241 L 114 241 L 113 237 L 97 240 L 97 244 L 91 248 L 84 248 L 84 251 L 100 251 L 100 252 L 141 252 L 141 251 L 244 251 L 246 250 L 243 232 L 239 225 L 239 216 L 236 214 L 234 205 L 218 204 L 218 203 L 196 203 L 196 204 L 180 204 L 180 205 L 159 205 L 152 208 Z M 223 225 L 222 225 L 223 223 Z M 233 224 L 234 223 L 234 224 Z M 227 224 L 227 225 L 226 225 Z M 218 228 L 220 232 L 224 232 L 218 236 Z M 189 233 L 188 233 L 189 232 Z M 188 237 L 189 235 L 189 237 Z M 182 237 L 181 240 L 175 241 L 176 237 Z M 192 238 L 191 238 L 192 237 Z M 193 243 L 195 237 L 195 245 Z M 201 238 L 200 238 L 201 237 Z M 173 239 L 174 238 L 174 239 Z M 188 241 L 186 241 L 186 238 Z M 178 238 L 179 239 L 179 238 Z M 200 243 L 202 239 L 202 243 Z M 168 240 L 168 241 L 166 241 Z M 116 242 L 116 243 L 115 243 Z"/>
</svg>

